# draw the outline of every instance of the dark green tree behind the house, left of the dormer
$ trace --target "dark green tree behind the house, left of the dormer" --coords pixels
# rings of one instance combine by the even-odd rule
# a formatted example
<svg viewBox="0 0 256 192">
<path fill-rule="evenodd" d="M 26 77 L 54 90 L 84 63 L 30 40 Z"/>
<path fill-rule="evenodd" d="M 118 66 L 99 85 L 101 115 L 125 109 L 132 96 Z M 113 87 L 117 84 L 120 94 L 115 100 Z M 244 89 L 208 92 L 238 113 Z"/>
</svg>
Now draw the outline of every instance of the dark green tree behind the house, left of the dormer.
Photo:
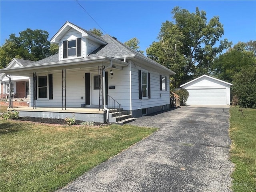
<svg viewBox="0 0 256 192">
<path fill-rule="evenodd" d="M 0 64 L 5 68 L 13 58 L 38 61 L 58 53 L 56 46 L 50 50 L 49 33 L 45 30 L 27 28 L 19 36 L 10 34 L 10 38 L 0 47 Z"/>
</svg>

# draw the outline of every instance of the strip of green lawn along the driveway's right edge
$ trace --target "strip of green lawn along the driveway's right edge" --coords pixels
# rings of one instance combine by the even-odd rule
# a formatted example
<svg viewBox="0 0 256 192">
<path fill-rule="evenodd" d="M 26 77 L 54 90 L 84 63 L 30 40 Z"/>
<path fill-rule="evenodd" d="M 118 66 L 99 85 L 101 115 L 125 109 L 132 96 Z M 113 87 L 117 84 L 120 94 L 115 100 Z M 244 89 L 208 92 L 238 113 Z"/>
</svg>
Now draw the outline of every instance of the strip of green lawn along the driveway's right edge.
<svg viewBox="0 0 256 192">
<path fill-rule="evenodd" d="M 256 191 L 256 110 L 230 107 L 234 192 Z"/>
</svg>

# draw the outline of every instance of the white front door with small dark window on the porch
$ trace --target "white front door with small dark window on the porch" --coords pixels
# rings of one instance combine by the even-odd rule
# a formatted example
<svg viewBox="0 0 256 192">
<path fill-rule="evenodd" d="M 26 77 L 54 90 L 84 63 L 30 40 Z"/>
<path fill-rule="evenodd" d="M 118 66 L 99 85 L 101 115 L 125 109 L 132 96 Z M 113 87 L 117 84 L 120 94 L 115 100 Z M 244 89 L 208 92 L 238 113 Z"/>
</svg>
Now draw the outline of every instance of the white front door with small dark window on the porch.
<svg viewBox="0 0 256 192">
<path fill-rule="evenodd" d="M 92 82 L 92 87 L 91 87 L 91 98 L 92 98 L 92 105 L 101 105 L 102 100 L 99 102 L 99 96 L 102 95 L 102 89 L 101 89 L 101 76 L 98 74 L 92 74 L 91 75 L 91 82 Z"/>
</svg>

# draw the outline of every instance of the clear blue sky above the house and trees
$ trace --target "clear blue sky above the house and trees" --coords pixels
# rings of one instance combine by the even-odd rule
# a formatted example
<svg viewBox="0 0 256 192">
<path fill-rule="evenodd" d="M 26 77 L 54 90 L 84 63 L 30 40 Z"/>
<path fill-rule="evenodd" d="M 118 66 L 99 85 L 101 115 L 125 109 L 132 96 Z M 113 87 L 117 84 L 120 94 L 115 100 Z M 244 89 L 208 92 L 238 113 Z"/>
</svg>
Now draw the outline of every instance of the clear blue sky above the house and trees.
<svg viewBox="0 0 256 192">
<path fill-rule="evenodd" d="M 156 40 L 162 22 L 172 20 L 175 6 L 195 12 L 206 11 L 208 20 L 219 16 L 224 25 L 222 39 L 233 45 L 238 41 L 256 40 L 256 1 L 83 1 L 78 2 L 94 18 L 104 33 L 121 42 L 133 37 L 140 49 Z M 0 1 L 0 45 L 9 35 L 27 28 L 49 32 L 49 40 L 68 20 L 84 29 L 100 28 L 73 1 Z"/>
</svg>

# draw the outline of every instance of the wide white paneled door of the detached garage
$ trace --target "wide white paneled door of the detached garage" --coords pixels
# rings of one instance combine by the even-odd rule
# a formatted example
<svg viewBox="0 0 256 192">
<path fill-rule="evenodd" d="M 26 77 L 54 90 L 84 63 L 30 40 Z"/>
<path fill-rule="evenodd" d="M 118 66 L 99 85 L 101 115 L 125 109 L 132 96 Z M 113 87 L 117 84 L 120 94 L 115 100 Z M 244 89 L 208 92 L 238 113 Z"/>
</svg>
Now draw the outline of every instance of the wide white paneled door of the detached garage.
<svg viewBox="0 0 256 192">
<path fill-rule="evenodd" d="M 187 105 L 226 105 L 226 88 L 187 90 Z"/>
</svg>

